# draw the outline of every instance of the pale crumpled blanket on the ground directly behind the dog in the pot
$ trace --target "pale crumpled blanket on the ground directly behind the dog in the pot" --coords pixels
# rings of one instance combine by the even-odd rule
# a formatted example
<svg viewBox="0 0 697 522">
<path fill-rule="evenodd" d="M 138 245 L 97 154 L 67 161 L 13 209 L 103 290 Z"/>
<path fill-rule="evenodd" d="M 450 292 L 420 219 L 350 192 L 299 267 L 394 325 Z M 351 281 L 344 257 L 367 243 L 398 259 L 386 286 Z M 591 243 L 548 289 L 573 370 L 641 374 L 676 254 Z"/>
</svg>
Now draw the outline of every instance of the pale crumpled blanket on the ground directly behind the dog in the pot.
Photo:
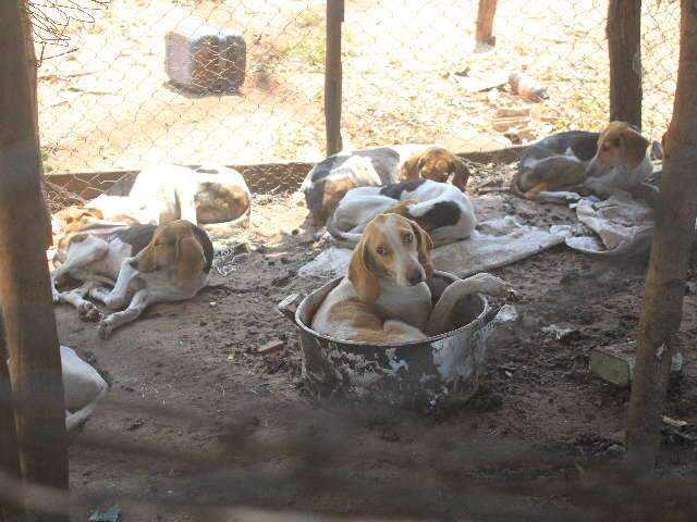
<svg viewBox="0 0 697 522">
<path fill-rule="evenodd" d="M 515 263 L 564 243 L 564 233 L 552 233 L 517 223 L 512 216 L 485 221 L 468 239 L 436 248 L 436 269 L 458 277 Z M 298 275 L 340 276 L 348 270 L 351 250 L 330 247 L 301 268 Z"/>
</svg>

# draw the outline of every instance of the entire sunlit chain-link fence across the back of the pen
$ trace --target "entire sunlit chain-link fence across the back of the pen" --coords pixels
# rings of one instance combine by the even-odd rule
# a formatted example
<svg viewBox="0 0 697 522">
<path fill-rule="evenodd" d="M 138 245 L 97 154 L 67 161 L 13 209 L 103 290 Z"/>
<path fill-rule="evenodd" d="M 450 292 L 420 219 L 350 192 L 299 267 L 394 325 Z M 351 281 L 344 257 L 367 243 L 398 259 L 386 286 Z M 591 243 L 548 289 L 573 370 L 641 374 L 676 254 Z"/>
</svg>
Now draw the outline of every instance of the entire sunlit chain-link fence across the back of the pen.
<svg viewBox="0 0 697 522">
<path fill-rule="evenodd" d="M 61 38 L 49 42 L 60 45 L 49 46 L 50 59 L 39 70 L 47 171 L 100 173 L 81 178 L 74 192 L 89 196 L 85 188 L 99 190 L 119 177 L 101 173 L 163 162 L 230 165 L 323 156 L 326 1 L 68 3 L 81 2 L 88 4 L 81 16 L 63 13 Z M 487 49 L 475 46 L 477 5 L 346 1 L 344 146 L 438 141 L 477 150 L 607 121 L 607 0 L 500 0 L 497 44 Z M 166 73 L 166 35 L 203 24 L 244 38 L 246 75 L 237 90 L 196 92 Z M 655 139 L 672 111 L 677 25 L 677 2 L 644 1 L 644 129 Z M 204 71 L 219 65 L 205 60 Z M 514 95 L 509 76 L 515 71 L 549 98 L 534 103 Z"/>
</svg>

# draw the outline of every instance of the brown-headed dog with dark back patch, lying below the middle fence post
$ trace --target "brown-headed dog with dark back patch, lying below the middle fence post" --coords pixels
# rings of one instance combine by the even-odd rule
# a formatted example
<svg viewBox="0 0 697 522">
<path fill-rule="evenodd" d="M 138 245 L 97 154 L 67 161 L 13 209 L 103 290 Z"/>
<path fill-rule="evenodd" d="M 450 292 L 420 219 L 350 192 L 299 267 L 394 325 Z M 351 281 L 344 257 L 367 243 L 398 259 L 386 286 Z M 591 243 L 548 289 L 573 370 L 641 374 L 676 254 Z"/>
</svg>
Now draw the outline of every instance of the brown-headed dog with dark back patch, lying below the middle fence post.
<svg viewBox="0 0 697 522">
<path fill-rule="evenodd" d="M 313 221 L 323 225 L 352 188 L 388 185 L 403 177 L 447 181 L 451 174 L 453 184 L 462 189 L 467 167 L 442 147 L 392 145 L 330 156 L 307 173 L 301 190 Z"/>
</svg>

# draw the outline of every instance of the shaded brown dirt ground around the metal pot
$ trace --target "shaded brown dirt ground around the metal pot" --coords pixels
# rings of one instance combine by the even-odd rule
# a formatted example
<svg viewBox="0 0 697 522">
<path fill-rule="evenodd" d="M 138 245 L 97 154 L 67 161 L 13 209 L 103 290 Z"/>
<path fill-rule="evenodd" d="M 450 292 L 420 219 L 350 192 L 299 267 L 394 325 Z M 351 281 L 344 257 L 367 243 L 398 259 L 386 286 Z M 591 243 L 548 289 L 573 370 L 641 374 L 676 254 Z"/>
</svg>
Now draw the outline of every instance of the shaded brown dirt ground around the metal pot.
<svg viewBox="0 0 697 522">
<path fill-rule="evenodd" d="M 511 172 L 475 166 L 475 186 Z M 557 207 L 501 197 L 524 223 L 566 220 Z M 117 502 L 124 522 L 223 520 L 211 507 L 232 506 L 278 520 L 695 520 L 694 447 L 665 438 L 656 483 L 619 474 L 628 391 L 587 370 L 594 347 L 634 337 L 645 258 L 608 263 L 559 247 L 497 271 L 518 289 L 521 318 L 491 338 L 476 396 L 445 411 L 400 411 L 308 393 L 296 332 L 276 306 L 320 285 L 296 272 L 326 244 L 297 194 L 254 204 L 252 252 L 196 298 L 152 307 L 106 341 L 57 308 L 61 341 L 112 385 L 71 449 L 73 492 L 91 495 L 91 508 Z M 665 411 L 689 423 L 696 285 L 694 258 L 680 334 L 686 364 Z M 578 333 L 558 341 L 541 331 L 562 323 Z M 255 353 L 273 339 L 285 347 Z M 80 509 L 73 520 L 86 517 Z"/>
</svg>

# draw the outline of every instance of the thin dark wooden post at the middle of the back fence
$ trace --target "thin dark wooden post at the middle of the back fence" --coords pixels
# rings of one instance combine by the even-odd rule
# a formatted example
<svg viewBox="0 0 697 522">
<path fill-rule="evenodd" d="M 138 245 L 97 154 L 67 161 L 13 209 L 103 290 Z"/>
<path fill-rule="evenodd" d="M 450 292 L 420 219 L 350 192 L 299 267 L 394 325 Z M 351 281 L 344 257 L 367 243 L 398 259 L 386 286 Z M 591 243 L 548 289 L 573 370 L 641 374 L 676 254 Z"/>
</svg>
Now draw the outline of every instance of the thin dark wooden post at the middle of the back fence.
<svg viewBox="0 0 697 522">
<path fill-rule="evenodd" d="M 327 0 L 327 55 L 325 63 L 325 123 L 327 156 L 343 148 L 341 139 L 341 24 L 344 21 L 344 0 Z"/>
</svg>

